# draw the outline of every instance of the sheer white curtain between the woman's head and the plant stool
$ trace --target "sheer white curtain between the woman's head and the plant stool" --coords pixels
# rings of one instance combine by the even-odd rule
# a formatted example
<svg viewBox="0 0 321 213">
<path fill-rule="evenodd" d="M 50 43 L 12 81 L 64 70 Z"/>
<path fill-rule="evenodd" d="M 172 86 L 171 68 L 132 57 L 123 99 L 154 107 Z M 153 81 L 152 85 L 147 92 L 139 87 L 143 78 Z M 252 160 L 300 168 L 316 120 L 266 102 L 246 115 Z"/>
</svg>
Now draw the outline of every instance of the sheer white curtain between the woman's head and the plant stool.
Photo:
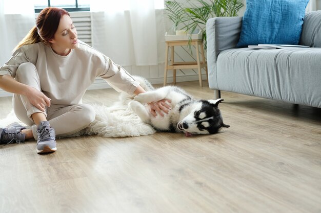
<svg viewBox="0 0 321 213">
<path fill-rule="evenodd" d="M 90 8 L 95 49 L 122 66 L 158 64 L 154 0 L 93 0 Z"/>
</svg>

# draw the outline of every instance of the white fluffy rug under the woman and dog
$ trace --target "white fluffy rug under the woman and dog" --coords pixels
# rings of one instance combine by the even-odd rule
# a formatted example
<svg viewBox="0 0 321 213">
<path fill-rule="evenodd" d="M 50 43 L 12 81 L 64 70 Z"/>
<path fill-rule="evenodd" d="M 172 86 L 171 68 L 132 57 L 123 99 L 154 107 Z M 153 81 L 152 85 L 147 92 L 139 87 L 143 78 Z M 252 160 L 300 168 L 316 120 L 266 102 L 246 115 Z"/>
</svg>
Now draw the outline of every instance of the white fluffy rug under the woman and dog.
<svg viewBox="0 0 321 213">
<path fill-rule="evenodd" d="M 148 124 L 142 122 L 137 114 L 127 108 L 127 104 L 116 102 L 113 106 L 93 104 L 96 111 L 95 121 L 87 128 L 70 136 L 100 135 L 103 137 L 129 137 L 150 135 L 155 130 Z M 0 127 L 5 127 L 13 122 L 21 123 L 14 112 L 0 120 Z M 21 123 L 24 125 L 23 123 Z"/>
</svg>

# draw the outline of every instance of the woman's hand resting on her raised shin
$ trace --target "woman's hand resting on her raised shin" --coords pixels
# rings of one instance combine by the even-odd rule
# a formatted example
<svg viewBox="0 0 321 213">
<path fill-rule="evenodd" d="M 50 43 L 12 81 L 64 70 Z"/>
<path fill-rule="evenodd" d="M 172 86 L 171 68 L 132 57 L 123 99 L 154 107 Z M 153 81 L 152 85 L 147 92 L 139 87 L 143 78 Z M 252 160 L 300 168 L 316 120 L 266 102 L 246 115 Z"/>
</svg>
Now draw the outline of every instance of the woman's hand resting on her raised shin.
<svg viewBox="0 0 321 213">
<path fill-rule="evenodd" d="M 46 106 L 50 107 L 50 99 L 45 96 L 45 94 L 33 87 L 29 87 L 26 96 L 30 103 L 40 109 L 41 111 L 46 111 Z"/>
</svg>

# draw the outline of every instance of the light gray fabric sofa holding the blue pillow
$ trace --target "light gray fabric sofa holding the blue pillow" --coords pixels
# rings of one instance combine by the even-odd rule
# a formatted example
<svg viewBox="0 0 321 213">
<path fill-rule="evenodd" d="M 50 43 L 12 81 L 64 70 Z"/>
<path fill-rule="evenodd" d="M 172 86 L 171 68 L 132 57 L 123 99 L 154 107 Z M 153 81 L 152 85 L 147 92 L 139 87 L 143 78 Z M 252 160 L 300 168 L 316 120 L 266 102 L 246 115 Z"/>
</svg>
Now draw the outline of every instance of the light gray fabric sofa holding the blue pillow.
<svg viewBox="0 0 321 213">
<path fill-rule="evenodd" d="M 321 11 L 306 13 L 300 50 L 236 48 L 242 17 L 207 21 L 209 87 L 321 108 Z"/>
</svg>

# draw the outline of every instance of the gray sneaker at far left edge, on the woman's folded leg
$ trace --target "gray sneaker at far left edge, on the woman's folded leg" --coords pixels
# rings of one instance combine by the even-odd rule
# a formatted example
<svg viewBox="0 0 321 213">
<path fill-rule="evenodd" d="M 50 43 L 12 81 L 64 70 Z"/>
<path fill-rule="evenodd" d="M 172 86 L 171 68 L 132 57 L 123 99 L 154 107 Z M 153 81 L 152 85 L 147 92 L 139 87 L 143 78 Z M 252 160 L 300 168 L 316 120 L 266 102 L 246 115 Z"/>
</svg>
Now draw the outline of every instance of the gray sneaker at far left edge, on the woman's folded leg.
<svg viewBox="0 0 321 213">
<path fill-rule="evenodd" d="M 0 128 L 0 144 L 24 143 L 26 134 L 20 132 L 22 129 L 26 129 L 26 127 L 18 123 L 10 124 L 6 128 Z"/>
</svg>

